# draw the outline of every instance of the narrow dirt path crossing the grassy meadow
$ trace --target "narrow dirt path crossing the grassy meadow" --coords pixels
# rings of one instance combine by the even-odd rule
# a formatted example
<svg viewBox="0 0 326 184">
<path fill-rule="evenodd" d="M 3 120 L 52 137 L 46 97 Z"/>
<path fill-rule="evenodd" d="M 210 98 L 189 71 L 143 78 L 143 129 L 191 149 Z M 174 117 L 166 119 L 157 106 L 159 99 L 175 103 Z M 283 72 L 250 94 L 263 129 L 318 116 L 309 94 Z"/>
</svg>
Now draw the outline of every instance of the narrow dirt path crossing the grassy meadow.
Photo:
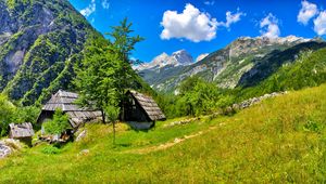
<svg viewBox="0 0 326 184">
<path fill-rule="evenodd" d="M 199 131 L 198 133 L 193 133 L 193 134 L 190 134 L 190 135 L 185 135 L 183 137 L 176 137 L 176 139 L 174 139 L 173 142 L 163 143 L 163 144 L 160 144 L 158 146 L 150 146 L 150 147 L 145 147 L 145 148 L 139 148 L 139 149 L 131 149 L 131 150 L 127 150 L 125 153 L 129 153 L 129 154 L 149 154 L 149 153 L 152 153 L 152 152 L 167 149 L 167 148 L 170 148 L 172 146 L 175 146 L 177 144 L 183 143 L 186 140 L 193 139 L 193 137 L 199 136 L 199 135 L 201 135 L 203 133 L 212 131 L 212 130 L 214 130 L 217 127 L 210 127 L 205 131 Z"/>
</svg>

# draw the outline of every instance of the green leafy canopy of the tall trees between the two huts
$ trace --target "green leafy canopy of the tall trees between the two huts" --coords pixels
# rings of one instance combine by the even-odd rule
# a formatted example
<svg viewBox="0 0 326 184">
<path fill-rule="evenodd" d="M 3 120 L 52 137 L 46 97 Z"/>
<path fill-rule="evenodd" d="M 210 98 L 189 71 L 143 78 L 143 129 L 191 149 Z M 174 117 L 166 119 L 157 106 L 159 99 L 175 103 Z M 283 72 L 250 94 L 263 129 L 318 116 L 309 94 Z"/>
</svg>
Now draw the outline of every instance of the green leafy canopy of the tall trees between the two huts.
<svg viewBox="0 0 326 184">
<path fill-rule="evenodd" d="M 112 27 L 108 34 L 111 42 L 103 38 L 93 39 L 87 47 L 85 58 L 76 65 L 75 84 L 80 92 L 80 102 L 101 109 L 103 121 L 106 109 L 122 109 L 126 90 L 138 78 L 129 56 L 142 38 L 130 36 L 131 25 L 125 18 L 120 26 Z"/>
</svg>

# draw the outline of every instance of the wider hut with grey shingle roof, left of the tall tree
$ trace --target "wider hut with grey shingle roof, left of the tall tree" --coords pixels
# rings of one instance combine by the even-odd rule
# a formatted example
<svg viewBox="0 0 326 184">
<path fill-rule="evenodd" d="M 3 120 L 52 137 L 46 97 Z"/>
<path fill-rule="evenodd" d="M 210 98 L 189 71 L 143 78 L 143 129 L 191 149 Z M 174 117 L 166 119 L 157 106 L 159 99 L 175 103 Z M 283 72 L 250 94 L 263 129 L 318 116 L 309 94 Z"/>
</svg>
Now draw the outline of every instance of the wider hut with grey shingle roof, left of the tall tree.
<svg viewBox="0 0 326 184">
<path fill-rule="evenodd" d="M 38 123 L 42 123 L 53 118 L 57 108 L 68 115 L 73 129 L 77 129 L 82 123 L 101 120 L 101 111 L 88 107 L 79 107 L 74 102 L 78 98 L 77 93 L 59 90 L 49 102 L 42 107 L 41 114 L 37 118 Z"/>
</svg>

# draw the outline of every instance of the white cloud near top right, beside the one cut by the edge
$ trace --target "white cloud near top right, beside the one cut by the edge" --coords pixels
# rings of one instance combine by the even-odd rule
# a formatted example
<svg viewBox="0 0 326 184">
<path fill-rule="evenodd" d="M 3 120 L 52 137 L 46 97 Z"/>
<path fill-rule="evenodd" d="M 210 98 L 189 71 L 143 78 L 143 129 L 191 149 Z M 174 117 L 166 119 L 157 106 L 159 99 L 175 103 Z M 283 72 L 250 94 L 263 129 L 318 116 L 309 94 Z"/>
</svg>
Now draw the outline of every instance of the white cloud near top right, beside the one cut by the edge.
<svg viewBox="0 0 326 184">
<path fill-rule="evenodd" d="M 308 1 L 301 2 L 301 10 L 298 14 L 298 22 L 306 25 L 311 18 L 318 14 L 317 5 Z"/>
</svg>

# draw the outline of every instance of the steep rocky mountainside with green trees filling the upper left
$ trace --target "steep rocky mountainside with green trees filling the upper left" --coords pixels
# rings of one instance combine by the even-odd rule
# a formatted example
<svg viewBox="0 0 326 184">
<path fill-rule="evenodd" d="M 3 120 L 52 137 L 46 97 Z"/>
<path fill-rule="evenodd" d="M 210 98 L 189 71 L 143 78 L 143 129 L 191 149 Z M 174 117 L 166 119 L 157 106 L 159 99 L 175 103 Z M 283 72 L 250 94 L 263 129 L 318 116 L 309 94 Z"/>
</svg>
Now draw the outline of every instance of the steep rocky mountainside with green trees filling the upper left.
<svg viewBox="0 0 326 184">
<path fill-rule="evenodd" d="M 86 42 L 101 37 L 67 0 L 0 0 L 0 91 L 23 104 L 70 88 Z"/>
</svg>

